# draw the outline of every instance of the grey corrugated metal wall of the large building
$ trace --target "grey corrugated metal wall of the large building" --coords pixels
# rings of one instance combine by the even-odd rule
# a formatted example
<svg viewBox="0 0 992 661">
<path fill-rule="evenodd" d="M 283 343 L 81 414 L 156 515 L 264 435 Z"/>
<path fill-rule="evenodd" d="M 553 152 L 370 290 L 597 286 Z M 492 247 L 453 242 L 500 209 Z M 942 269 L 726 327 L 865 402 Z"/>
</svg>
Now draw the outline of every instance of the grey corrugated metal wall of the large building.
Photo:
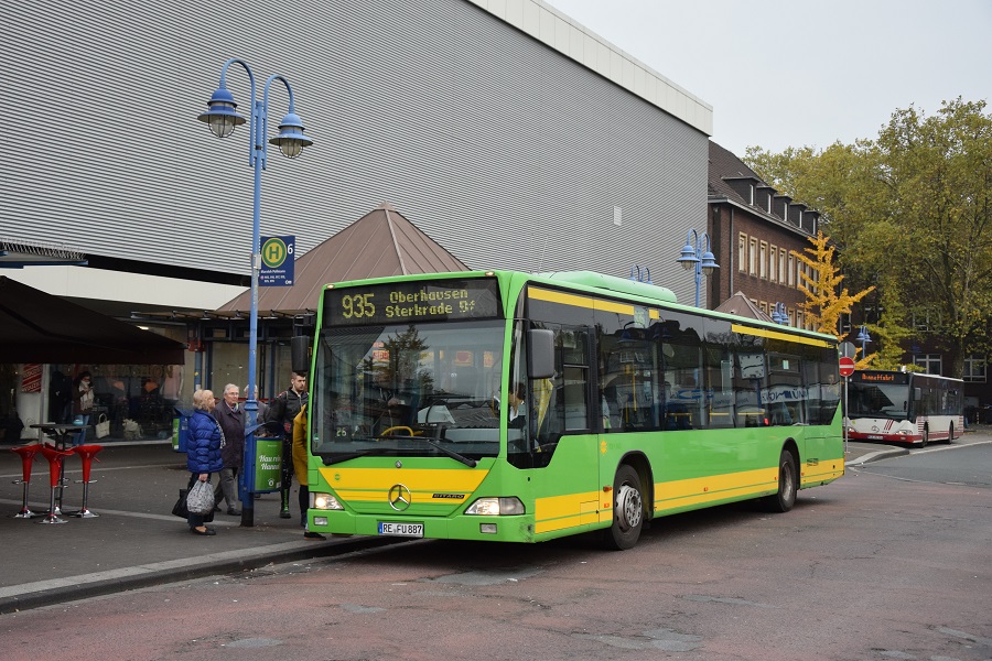
<svg viewBox="0 0 992 661">
<path fill-rule="evenodd" d="M 707 136 L 464 0 L 4 3 L 0 235 L 247 273 L 247 128 L 196 115 L 228 57 L 315 141 L 269 150 L 263 235 L 305 252 L 380 202 L 472 268 L 594 269 L 687 300 Z M 228 88 L 249 111 L 248 77 Z M 278 83 L 270 133 L 287 111 Z M 614 207 L 622 224 L 614 223 Z"/>
</svg>

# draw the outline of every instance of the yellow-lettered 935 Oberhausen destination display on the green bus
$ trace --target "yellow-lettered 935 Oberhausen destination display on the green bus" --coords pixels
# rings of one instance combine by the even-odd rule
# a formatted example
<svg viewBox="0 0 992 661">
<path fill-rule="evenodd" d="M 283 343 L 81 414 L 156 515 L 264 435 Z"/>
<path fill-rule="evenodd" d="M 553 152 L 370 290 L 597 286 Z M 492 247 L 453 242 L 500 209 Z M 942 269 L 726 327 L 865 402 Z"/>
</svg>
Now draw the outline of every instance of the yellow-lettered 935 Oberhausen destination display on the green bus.
<svg viewBox="0 0 992 661">
<path fill-rule="evenodd" d="M 499 315 L 496 281 L 438 280 L 327 290 L 324 322 L 333 326 L 406 324 Z"/>
</svg>

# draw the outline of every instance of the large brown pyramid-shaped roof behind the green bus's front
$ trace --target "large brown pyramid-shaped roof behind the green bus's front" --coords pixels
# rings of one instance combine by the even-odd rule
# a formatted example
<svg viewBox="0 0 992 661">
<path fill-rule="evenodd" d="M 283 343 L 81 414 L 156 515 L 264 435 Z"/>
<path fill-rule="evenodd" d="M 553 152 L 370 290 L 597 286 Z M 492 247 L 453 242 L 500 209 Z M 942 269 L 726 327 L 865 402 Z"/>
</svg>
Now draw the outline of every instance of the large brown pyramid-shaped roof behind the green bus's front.
<svg viewBox="0 0 992 661">
<path fill-rule="evenodd" d="M 314 310 L 321 290 L 328 282 L 470 269 L 384 202 L 299 257 L 293 270 L 292 286 L 259 288 L 260 313 Z M 251 290 L 247 290 L 217 312 L 250 310 Z"/>
</svg>

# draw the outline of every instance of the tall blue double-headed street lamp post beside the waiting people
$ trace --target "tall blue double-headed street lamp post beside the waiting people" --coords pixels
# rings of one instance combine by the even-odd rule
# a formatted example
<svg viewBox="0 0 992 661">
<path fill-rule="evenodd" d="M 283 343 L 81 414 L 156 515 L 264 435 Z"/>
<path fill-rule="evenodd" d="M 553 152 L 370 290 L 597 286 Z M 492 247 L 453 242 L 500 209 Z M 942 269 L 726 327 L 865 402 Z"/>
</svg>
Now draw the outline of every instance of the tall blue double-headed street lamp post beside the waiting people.
<svg viewBox="0 0 992 661">
<path fill-rule="evenodd" d="M 239 64 L 247 73 L 251 83 L 251 116 L 245 119 L 238 115 L 234 95 L 227 89 L 227 68 L 231 64 Z M 261 206 L 261 171 L 266 169 L 266 137 L 268 134 L 268 106 L 269 88 L 272 83 L 280 80 L 289 93 L 289 112 L 279 124 L 279 134 L 268 142 L 279 147 L 282 154 L 289 159 L 295 159 L 304 147 L 313 144 L 313 140 L 303 136 L 303 122 L 296 115 L 293 105 L 293 89 L 289 80 L 279 74 L 269 76 L 262 91 L 262 99 L 256 98 L 255 75 L 251 67 L 244 59 L 233 57 L 224 63 L 220 69 L 220 86 L 214 91 L 207 101 L 208 110 L 197 117 L 200 121 L 211 127 L 211 132 L 217 138 L 227 138 L 235 128 L 248 122 L 248 163 L 255 169 L 255 197 L 254 215 L 251 224 L 251 317 L 249 319 L 248 338 L 248 392 L 245 393 L 245 412 L 248 414 L 245 430 L 245 462 L 238 478 L 241 492 L 241 525 L 255 524 L 255 427 L 258 423 L 258 400 L 255 399 L 257 390 L 256 355 L 258 351 L 258 271 L 261 268 L 261 254 L 259 253 L 259 220 Z"/>
</svg>

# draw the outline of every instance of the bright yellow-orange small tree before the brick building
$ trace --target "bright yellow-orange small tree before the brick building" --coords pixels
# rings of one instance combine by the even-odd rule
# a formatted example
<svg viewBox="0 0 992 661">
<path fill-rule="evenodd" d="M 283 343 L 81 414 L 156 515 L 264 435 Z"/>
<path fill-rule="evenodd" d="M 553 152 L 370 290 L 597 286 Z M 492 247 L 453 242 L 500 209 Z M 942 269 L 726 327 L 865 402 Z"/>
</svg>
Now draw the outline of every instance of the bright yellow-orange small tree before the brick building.
<svg viewBox="0 0 992 661">
<path fill-rule="evenodd" d="M 796 259 L 809 267 L 799 271 L 799 291 L 806 295 L 806 302 L 800 303 L 799 308 L 813 329 L 841 339 L 843 336 L 839 330 L 840 316 L 850 314 L 851 305 L 861 301 L 875 288 L 870 286 L 853 295 L 847 288 L 840 289 L 844 277 L 839 274 L 837 267 L 833 266 L 835 248 L 828 246 L 830 237 L 824 237 L 822 231 L 818 231 L 816 238 L 809 237 L 809 242 L 812 243 L 812 248 L 804 250 L 806 254 L 790 251 Z"/>
</svg>

